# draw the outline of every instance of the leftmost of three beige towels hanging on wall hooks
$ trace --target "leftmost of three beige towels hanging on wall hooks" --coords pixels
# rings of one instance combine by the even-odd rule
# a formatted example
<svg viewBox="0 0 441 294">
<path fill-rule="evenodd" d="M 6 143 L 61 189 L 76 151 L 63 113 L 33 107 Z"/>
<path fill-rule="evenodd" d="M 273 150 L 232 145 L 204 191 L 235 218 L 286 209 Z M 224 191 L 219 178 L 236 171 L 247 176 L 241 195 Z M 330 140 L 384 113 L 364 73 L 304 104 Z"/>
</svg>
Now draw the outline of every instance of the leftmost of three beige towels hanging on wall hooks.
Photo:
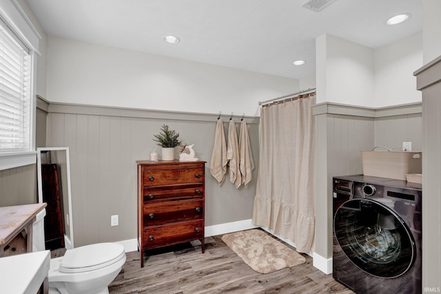
<svg viewBox="0 0 441 294">
<path fill-rule="evenodd" d="M 222 118 L 218 118 L 216 133 L 214 134 L 214 146 L 212 162 L 209 165 L 209 172 L 216 178 L 218 183 L 223 182 L 227 173 L 227 143 L 225 143 L 225 132 L 223 131 Z"/>
</svg>

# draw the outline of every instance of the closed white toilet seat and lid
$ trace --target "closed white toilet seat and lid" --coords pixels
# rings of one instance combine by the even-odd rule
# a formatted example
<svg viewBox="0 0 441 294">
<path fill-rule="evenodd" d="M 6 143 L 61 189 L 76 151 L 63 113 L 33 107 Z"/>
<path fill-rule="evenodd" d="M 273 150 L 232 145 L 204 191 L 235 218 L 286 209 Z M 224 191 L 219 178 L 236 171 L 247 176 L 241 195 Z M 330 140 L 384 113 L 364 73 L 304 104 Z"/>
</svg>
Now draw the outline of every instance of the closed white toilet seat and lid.
<svg viewBox="0 0 441 294">
<path fill-rule="evenodd" d="M 66 251 L 59 266 L 61 273 L 83 273 L 113 264 L 125 257 L 124 246 L 118 243 L 97 243 Z"/>
</svg>

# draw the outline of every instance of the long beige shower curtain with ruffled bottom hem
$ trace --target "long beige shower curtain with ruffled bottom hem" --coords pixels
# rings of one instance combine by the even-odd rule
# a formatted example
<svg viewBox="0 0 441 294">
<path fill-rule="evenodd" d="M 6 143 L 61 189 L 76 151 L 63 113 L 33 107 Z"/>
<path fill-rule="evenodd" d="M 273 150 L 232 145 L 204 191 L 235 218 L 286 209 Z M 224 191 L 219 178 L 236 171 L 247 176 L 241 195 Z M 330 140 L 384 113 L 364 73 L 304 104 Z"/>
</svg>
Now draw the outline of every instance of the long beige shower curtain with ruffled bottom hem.
<svg viewBox="0 0 441 294">
<path fill-rule="evenodd" d="M 316 94 L 260 109 L 260 154 L 253 224 L 307 253 L 314 246 L 314 117 Z"/>
</svg>

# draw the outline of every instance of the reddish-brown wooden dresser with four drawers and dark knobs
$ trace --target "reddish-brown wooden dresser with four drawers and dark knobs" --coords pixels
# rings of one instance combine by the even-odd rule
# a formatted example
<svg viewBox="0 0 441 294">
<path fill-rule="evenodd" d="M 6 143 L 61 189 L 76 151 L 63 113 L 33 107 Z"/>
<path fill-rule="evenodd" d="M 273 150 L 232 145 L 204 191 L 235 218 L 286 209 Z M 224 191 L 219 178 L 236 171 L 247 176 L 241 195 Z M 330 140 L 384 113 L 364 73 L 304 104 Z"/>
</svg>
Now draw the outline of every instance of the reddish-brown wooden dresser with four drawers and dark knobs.
<svg viewBox="0 0 441 294">
<path fill-rule="evenodd" d="M 136 161 L 138 246 L 144 251 L 201 240 L 205 250 L 205 161 Z"/>
</svg>

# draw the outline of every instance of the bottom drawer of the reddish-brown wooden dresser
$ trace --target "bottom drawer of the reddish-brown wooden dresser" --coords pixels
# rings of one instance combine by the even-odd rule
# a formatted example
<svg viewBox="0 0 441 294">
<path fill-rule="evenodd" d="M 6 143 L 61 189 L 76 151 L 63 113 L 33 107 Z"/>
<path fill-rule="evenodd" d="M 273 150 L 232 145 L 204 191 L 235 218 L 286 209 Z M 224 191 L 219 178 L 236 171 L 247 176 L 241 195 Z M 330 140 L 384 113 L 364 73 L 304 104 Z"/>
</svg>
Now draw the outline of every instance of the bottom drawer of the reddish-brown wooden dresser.
<svg viewBox="0 0 441 294">
<path fill-rule="evenodd" d="M 143 229 L 144 249 L 189 242 L 204 238 L 203 220 L 164 224 Z"/>
</svg>

